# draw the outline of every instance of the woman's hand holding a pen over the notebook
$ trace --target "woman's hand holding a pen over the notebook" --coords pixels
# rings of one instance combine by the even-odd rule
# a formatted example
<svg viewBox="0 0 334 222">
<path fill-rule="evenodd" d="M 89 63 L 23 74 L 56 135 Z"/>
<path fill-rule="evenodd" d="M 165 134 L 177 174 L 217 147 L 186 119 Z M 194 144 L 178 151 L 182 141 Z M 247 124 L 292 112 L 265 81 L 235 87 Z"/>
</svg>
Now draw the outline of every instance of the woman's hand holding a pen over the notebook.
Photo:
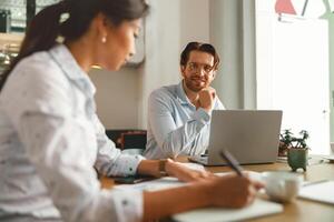
<svg viewBox="0 0 334 222">
<path fill-rule="evenodd" d="M 257 191 L 264 188 L 258 181 L 236 174 L 217 176 L 206 183 L 210 205 L 225 208 L 242 208 L 252 203 Z"/>
</svg>

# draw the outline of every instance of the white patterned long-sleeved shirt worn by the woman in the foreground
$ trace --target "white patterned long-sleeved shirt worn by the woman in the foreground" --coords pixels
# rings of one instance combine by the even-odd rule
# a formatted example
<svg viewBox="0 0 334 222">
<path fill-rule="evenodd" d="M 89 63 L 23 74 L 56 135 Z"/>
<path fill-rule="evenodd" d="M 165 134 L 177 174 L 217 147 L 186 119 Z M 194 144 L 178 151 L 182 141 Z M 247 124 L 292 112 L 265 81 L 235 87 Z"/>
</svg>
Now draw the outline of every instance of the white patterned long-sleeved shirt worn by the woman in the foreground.
<svg viewBox="0 0 334 222">
<path fill-rule="evenodd" d="M 106 137 L 95 91 L 62 44 L 12 71 L 0 93 L 0 220 L 141 220 L 141 192 L 100 189 L 94 167 L 135 174 L 143 157 L 121 154 Z"/>
</svg>

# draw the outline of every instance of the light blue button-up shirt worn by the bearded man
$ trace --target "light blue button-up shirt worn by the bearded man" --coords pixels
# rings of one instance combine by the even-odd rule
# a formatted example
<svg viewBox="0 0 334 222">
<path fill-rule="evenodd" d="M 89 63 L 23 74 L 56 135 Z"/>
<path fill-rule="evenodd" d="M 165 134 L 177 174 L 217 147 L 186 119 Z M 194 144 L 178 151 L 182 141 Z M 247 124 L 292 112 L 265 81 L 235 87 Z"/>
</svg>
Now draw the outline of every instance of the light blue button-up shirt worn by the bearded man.
<svg viewBox="0 0 334 222">
<path fill-rule="evenodd" d="M 216 97 L 214 110 L 224 105 Z M 149 95 L 147 159 L 198 155 L 205 152 L 209 142 L 210 113 L 196 107 L 179 84 L 163 87 Z"/>
</svg>

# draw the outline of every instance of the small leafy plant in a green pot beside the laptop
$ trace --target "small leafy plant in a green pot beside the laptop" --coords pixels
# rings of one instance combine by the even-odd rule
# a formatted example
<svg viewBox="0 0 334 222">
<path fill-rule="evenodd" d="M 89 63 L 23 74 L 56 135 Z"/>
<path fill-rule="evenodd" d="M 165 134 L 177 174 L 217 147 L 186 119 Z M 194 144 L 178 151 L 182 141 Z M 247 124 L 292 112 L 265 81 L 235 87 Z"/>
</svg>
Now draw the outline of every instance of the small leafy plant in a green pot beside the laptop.
<svg viewBox="0 0 334 222">
<path fill-rule="evenodd" d="M 285 130 L 281 134 L 281 152 L 285 151 L 287 155 L 287 163 L 293 171 L 296 171 L 299 168 L 306 171 L 307 165 L 310 148 L 307 147 L 306 140 L 310 138 L 310 135 L 306 130 L 302 130 L 299 135 L 301 137 L 294 137 L 291 130 Z"/>
</svg>

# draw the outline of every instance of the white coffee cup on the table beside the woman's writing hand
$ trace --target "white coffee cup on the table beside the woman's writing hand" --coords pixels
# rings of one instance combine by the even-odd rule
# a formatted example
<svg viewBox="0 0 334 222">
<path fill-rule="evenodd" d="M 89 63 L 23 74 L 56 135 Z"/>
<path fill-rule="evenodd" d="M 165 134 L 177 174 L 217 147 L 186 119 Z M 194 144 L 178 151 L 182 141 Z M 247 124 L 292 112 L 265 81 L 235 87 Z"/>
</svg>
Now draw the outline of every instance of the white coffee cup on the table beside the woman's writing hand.
<svg viewBox="0 0 334 222">
<path fill-rule="evenodd" d="M 268 196 L 278 202 L 289 202 L 297 196 L 303 178 L 296 173 L 267 171 L 262 173 Z"/>
</svg>

